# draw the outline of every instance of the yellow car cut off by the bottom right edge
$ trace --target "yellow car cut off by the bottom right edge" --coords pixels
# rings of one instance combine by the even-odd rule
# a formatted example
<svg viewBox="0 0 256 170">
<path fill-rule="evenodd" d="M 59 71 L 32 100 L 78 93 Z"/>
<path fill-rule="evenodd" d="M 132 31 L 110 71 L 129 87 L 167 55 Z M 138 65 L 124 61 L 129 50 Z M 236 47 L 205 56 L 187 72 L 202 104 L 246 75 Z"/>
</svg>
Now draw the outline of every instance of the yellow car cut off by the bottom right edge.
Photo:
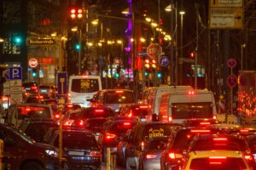
<svg viewBox="0 0 256 170">
<path fill-rule="evenodd" d="M 247 163 L 245 156 L 241 152 L 234 150 L 208 150 L 189 152 L 189 156 L 183 162 L 182 169 L 251 170 L 253 167 Z"/>
</svg>

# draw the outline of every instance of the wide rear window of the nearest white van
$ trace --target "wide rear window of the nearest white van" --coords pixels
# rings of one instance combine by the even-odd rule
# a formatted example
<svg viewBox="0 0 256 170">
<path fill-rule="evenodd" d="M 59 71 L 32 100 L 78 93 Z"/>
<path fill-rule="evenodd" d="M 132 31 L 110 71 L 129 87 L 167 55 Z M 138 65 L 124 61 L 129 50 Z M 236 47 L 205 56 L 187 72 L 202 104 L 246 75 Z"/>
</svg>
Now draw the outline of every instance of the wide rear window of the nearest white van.
<svg viewBox="0 0 256 170">
<path fill-rule="evenodd" d="M 212 103 L 172 104 L 173 119 L 212 118 Z"/>
</svg>

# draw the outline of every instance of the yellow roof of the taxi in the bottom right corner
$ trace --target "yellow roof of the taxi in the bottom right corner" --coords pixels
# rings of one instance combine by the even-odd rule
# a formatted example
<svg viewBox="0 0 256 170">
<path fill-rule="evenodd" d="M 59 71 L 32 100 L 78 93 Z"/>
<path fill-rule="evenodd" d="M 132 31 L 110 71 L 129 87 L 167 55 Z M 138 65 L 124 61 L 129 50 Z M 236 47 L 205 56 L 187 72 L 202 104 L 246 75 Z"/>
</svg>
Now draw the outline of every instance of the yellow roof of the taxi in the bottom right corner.
<svg viewBox="0 0 256 170">
<path fill-rule="evenodd" d="M 209 156 L 229 156 L 229 157 L 242 157 L 241 151 L 233 150 L 203 150 L 189 152 L 191 159 L 204 158 Z"/>
</svg>

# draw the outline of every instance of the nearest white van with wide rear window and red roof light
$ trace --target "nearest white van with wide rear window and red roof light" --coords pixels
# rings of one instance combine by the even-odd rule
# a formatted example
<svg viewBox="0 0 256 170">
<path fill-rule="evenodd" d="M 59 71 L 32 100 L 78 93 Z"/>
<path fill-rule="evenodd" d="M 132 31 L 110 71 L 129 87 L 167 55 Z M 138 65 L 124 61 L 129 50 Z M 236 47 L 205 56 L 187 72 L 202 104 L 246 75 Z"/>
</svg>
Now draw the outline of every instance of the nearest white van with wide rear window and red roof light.
<svg viewBox="0 0 256 170">
<path fill-rule="evenodd" d="M 207 89 L 171 92 L 160 99 L 160 122 L 182 123 L 188 119 L 216 119 L 216 116 L 215 100 Z"/>
</svg>

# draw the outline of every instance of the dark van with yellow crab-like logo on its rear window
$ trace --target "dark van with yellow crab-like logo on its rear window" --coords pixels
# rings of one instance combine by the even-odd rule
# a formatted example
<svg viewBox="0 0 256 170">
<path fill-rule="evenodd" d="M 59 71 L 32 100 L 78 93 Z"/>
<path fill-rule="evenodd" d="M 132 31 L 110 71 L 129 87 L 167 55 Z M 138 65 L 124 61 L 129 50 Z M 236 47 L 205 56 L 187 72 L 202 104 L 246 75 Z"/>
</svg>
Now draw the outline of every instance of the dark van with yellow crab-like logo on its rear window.
<svg viewBox="0 0 256 170">
<path fill-rule="evenodd" d="M 180 124 L 172 122 L 145 122 L 133 127 L 129 139 L 125 141 L 126 169 L 139 167 L 139 156 L 148 139 L 171 135 L 177 127 L 180 127 Z"/>
</svg>

